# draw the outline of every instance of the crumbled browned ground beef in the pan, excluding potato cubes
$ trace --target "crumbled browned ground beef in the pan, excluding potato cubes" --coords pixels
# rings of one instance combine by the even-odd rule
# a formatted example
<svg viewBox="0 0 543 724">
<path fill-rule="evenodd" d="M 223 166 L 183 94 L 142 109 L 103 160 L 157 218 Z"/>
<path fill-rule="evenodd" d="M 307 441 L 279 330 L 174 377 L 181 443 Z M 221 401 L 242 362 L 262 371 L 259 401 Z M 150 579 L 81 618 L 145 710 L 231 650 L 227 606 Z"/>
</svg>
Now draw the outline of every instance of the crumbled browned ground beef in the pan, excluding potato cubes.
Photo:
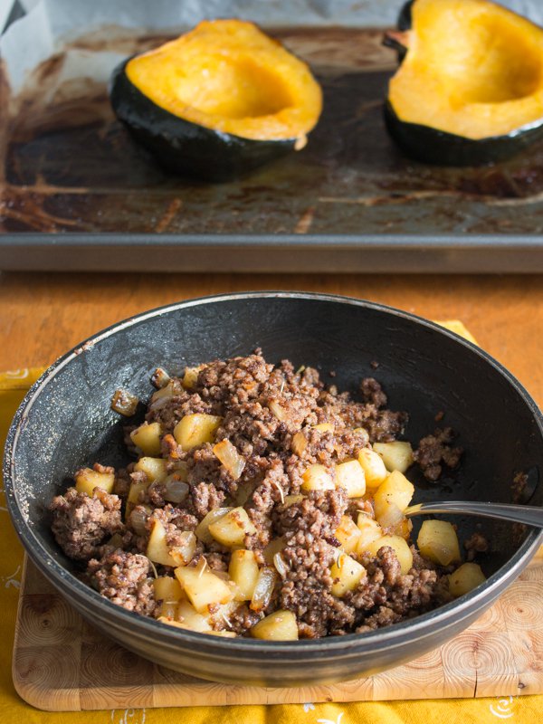
<svg viewBox="0 0 543 724">
<path fill-rule="evenodd" d="M 179 503 L 167 500 L 167 483 L 152 482 L 131 498 L 121 519 L 121 500 L 95 489 L 92 498 L 70 489 L 52 501 L 52 530 L 66 554 L 90 560 L 90 584 L 118 605 L 145 615 L 160 615 L 151 575 L 173 577 L 173 567 L 155 563 L 144 554 L 157 521 L 163 526 L 167 546 L 179 546 L 187 533 L 211 511 L 223 506 L 243 506 L 255 532 L 247 533 L 243 547 L 252 550 L 259 567 L 270 566 L 263 549 L 271 540 L 283 541 L 284 568 L 278 570 L 271 600 L 262 613 L 250 602 L 233 605 L 227 613 L 214 611 L 216 630 L 247 634 L 263 614 L 278 608 L 296 615 L 300 637 L 364 632 L 422 613 L 450 599 L 446 573 L 416 550 L 411 570 L 402 575 L 392 548 L 380 548 L 374 557 L 363 557 L 365 575 L 354 590 L 332 594 L 330 568 L 339 546 L 336 531 L 344 515 L 357 520 L 358 511 L 373 516 L 371 494 L 348 500 L 347 491 L 318 490 L 299 496 L 303 474 L 319 464 L 333 474 L 335 465 L 357 457 L 370 443 L 394 441 L 403 432 L 407 415 L 386 408 L 379 383 L 368 377 L 360 385 L 360 399 L 325 388 L 317 370 L 283 360 L 268 364 L 257 350 L 249 357 L 217 360 L 200 367 L 195 382 L 185 389 L 181 378 L 165 378 L 148 405 L 146 420 L 161 425 L 161 456 L 167 473 L 186 471 L 188 493 Z M 163 394 L 169 389 L 170 395 Z M 237 480 L 214 454 L 214 443 L 190 451 L 176 442 L 174 429 L 186 414 L 220 415 L 214 443 L 228 440 L 243 456 Z M 333 430 L 315 425 L 332 424 Z M 130 427 L 133 430 L 134 427 Z M 303 444 L 300 444 L 301 433 Z M 138 452 L 127 437 L 129 450 Z M 436 431 L 424 438 L 415 457 L 424 474 L 435 480 L 443 463 L 454 467 L 461 450 L 452 448 L 452 431 Z M 147 481 L 145 472 L 119 471 L 115 491 L 127 506 L 130 486 Z M 119 535 L 109 541 L 110 536 Z M 474 548 L 481 548 L 473 541 Z M 227 576 L 232 551 L 216 540 L 198 540 L 190 567 L 208 567 Z M 353 554 L 354 557 L 354 554 Z M 217 606 L 214 605 L 214 609 Z M 216 614 L 216 615 L 215 615 Z"/>
</svg>

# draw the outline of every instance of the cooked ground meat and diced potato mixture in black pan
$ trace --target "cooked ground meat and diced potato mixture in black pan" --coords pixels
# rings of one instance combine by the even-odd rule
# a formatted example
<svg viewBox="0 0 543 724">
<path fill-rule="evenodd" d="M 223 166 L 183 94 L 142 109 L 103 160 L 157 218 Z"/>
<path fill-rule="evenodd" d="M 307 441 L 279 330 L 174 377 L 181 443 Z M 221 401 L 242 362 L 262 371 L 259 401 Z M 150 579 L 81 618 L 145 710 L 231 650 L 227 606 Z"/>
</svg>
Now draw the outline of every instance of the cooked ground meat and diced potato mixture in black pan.
<svg viewBox="0 0 543 724">
<path fill-rule="evenodd" d="M 135 462 L 95 464 L 52 500 L 52 531 L 86 581 L 129 611 L 222 636 L 363 633 L 462 595 L 484 576 L 456 531 L 403 511 L 418 459 L 434 480 L 461 450 L 436 431 L 417 450 L 375 379 L 358 399 L 260 350 L 170 377 L 158 368 Z M 119 391 L 113 406 L 133 414 Z"/>
</svg>

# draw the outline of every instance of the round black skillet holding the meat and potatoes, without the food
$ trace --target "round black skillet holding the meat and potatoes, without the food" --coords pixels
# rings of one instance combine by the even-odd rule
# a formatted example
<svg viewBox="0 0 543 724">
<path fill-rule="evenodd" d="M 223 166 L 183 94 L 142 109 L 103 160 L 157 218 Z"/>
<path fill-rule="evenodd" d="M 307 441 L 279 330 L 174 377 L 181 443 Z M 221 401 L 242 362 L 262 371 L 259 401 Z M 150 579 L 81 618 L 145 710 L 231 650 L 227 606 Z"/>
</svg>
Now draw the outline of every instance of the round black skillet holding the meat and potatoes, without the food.
<svg viewBox="0 0 543 724">
<path fill-rule="evenodd" d="M 481 520 L 491 553 L 485 584 L 452 604 L 402 624 L 316 641 L 221 639 L 173 630 L 111 604 L 72 575 L 49 529 L 46 506 L 84 464 L 127 462 L 123 420 L 110 410 L 120 386 L 146 400 L 151 372 L 172 373 L 262 347 L 269 361 L 329 370 L 356 392 L 376 376 L 392 409 L 407 410 L 405 437 L 452 425 L 466 452 L 462 469 L 436 485 L 416 471 L 417 500 L 510 502 L 515 472 L 543 468 L 543 419 L 513 376 L 481 349 L 437 325 L 367 301 L 319 294 L 251 292 L 190 300 L 100 332 L 61 357 L 24 398 L 8 433 L 5 493 L 33 563 L 100 632 L 130 650 L 205 679 L 292 686 L 354 679 L 413 659 L 458 633 L 528 564 L 543 534 Z M 370 363 L 377 361 L 375 370 Z M 331 380 L 330 380 L 331 381 Z M 540 486 L 529 500 L 541 505 Z M 417 521 L 418 522 L 418 521 Z M 478 525 L 455 518 L 461 538 Z M 419 522 L 420 524 L 420 522 Z"/>
</svg>

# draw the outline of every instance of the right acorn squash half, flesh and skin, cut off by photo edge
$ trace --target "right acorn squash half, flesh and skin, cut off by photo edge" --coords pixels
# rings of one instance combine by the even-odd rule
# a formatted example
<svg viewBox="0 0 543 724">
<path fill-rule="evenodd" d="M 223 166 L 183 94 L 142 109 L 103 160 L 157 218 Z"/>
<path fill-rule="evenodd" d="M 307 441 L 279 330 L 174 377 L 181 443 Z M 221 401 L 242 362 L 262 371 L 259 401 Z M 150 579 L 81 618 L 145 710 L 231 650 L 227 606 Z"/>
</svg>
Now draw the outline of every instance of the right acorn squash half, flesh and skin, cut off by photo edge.
<svg viewBox="0 0 543 724">
<path fill-rule="evenodd" d="M 543 138 L 543 29 L 487 0 L 413 0 L 386 126 L 411 157 L 476 166 Z"/>
</svg>

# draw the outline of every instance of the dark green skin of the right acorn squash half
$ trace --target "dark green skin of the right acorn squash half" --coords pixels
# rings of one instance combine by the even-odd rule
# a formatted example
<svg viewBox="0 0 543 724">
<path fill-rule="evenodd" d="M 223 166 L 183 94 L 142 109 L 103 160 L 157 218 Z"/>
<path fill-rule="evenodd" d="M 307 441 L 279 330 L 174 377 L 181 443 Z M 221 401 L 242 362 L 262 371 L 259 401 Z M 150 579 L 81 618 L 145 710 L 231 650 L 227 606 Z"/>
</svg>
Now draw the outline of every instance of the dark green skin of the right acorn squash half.
<svg viewBox="0 0 543 724">
<path fill-rule="evenodd" d="M 416 0 L 409 0 L 398 16 L 398 30 L 411 29 L 411 9 Z M 405 58 L 407 49 L 388 43 L 398 52 L 398 62 Z M 398 118 L 389 100 L 385 104 L 386 129 L 406 156 L 436 166 L 483 166 L 516 156 L 539 140 L 543 140 L 543 119 L 537 123 L 514 129 L 504 136 L 489 138 L 463 138 L 453 133 Z"/>
</svg>

